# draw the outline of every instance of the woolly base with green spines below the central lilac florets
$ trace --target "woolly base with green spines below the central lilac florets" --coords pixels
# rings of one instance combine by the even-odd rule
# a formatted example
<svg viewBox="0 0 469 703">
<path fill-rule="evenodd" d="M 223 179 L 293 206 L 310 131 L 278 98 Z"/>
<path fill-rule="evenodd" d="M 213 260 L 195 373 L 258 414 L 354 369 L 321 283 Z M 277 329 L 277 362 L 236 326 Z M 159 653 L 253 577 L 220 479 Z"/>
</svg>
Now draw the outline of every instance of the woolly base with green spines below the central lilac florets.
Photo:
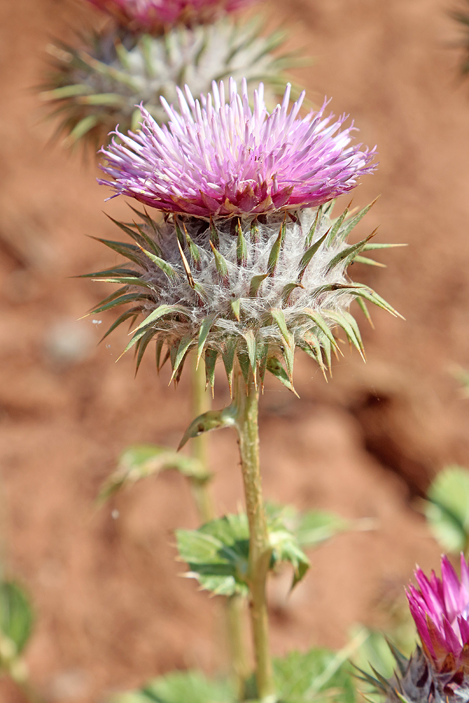
<svg viewBox="0 0 469 703">
<path fill-rule="evenodd" d="M 363 355 L 349 313 L 354 299 L 367 315 L 366 302 L 396 314 L 346 274 L 354 260 L 370 261 L 363 252 L 387 246 L 370 243 L 374 233 L 346 243 L 370 205 L 348 218 L 347 208 L 337 219 L 332 205 L 211 221 L 174 214 L 154 221 L 135 210 L 141 224 L 116 222 L 133 243 L 99 240 L 131 263 L 88 274 L 121 286 L 92 312 L 130 304 L 105 336 L 143 316 L 125 349 L 136 350 L 137 368 L 154 340 L 158 368 L 169 359 L 176 382 L 194 350 L 212 387 L 217 359 L 231 387 L 236 356 L 246 382 L 250 370 L 261 383 L 268 370 L 293 389 L 296 347 L 330 369 L 339 329 Z"/>
</svg>

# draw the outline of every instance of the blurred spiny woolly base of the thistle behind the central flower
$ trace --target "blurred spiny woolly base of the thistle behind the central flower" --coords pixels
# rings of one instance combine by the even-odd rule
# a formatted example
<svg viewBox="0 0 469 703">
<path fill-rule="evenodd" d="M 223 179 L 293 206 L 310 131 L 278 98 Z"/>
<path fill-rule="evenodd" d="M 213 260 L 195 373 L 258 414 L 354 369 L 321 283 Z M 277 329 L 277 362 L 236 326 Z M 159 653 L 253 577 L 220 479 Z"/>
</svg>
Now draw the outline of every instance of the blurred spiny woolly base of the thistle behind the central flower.
<svg viewBox="0 0 469 703">
<path fill-rule="evenodd" d="M 283 69 L 292 56 L 273 56 L 283 35 L 259 36 L 259 22 L 175 27 L 161 34 L 135 35 L 104 30 L 82 37 L 82 49 L 57 42 L 49 47 L 51 70 L 42 85 L 42 98 L 51 116 L 60 117 L 57 134 L 69 146 L 86 139 L 94 148 L 108 143 L 108 133 L 135 131 L 143 104 L 161 124 L 168 116 L 161 103 L 177 100 L 176 86 L 189 85 L 194 95 L 206 93 L 213 80 L 227 77 L 263 81 L 270 98 L 283 91 Z"/>
</svg>

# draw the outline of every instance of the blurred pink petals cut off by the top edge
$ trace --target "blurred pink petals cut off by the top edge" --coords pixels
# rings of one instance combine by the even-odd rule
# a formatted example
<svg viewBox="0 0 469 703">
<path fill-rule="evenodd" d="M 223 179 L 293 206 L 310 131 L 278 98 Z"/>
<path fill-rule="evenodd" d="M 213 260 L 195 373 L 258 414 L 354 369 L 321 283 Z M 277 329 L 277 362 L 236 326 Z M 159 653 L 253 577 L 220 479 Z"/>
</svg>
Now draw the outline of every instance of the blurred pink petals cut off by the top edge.
<svg viewBox="0 0 469 703">
<path fill-rule="evenodd" d="M 161 25 L 212 22 L 253 0 L 89 0 L 122 24 L 153 32 Z"/>
</svg>

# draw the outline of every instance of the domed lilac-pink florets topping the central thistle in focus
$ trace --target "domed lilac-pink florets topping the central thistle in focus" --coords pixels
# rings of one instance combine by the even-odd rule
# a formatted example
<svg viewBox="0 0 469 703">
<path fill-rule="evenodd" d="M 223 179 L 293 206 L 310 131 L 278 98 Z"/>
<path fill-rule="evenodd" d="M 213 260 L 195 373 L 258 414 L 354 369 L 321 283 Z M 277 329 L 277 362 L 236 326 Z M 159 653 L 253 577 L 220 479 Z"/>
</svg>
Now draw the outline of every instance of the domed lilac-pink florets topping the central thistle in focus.
<svg viewBox="0 0 469 703">
<path fill-rule="evenodd" d="M 178 90 L 179 110 L 161 98 L 168 125 L 160 127 L 146 110 L 137 134 L 114 134 L 102 148 L 101 167 L 117 195 L 127 195 L 164 212 L 195 217 L 263 214 L 315 207 L 350 191 L 358 176 L 375 168 L 374 150 L 351 145 L 346 117 L 318 112 L 300 118 L 304 93 L 289 109 L 290 86 L 281 105 L 268 112 L 263 84 L 251 108 L 246 82 L 238 93 L 230 79 L 212 84 L 212 93 L 194 100 Z"/>
</svg>

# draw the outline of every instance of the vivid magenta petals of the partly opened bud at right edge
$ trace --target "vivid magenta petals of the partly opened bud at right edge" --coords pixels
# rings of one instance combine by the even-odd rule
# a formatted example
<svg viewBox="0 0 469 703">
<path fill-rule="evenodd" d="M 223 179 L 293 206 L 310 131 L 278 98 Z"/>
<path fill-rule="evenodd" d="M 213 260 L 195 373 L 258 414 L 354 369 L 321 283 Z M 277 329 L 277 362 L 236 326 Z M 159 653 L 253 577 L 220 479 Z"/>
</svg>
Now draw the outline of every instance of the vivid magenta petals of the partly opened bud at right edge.
<svg viewBox="0 0 469 703">
<path fill-rule="evenodd" d="M 469 650 L 469 567 L 461 554 L 461 579 L 448 557 L 442 557 L 442 578 L 434 572 L 430 579 L 421 569 L 415 571 L 418 588 L 409 586 L 407 598 L 427 657 L 437 667 L 449 654 L 456 662 L 468 657 Z"/>
</svg>

